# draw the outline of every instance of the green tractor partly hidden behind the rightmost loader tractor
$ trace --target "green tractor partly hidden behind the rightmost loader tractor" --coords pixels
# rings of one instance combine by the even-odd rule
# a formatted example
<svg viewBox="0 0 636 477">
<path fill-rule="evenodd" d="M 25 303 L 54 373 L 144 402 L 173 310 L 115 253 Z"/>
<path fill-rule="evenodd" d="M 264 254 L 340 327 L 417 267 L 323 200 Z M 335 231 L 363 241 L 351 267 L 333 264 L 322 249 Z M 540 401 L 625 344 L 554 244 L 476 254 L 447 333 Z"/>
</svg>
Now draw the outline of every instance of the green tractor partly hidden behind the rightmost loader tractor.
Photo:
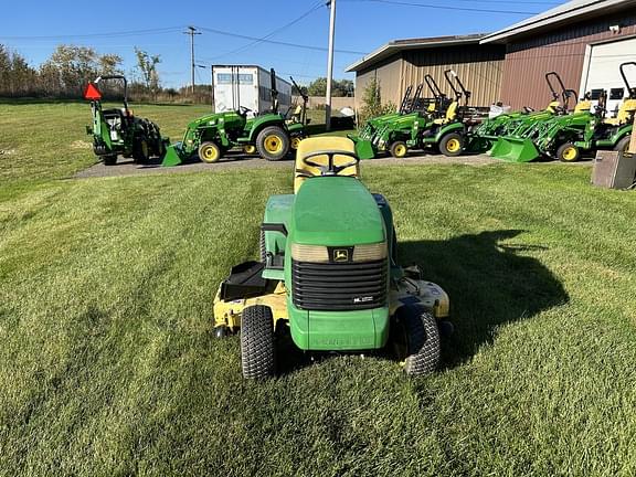
<svg viewBox="0 0 636 477">
<path fill-rule="evenodd" d="M 549 119 L 554 115 L 566 114 L 570 97 L 575 93 L 565 88 L 556 72 L 545 73 L 545 82 L 552 93 L 552 99 L 545 109 L 534 110 L 526 106 L 522 110 L 501 114 L 481 121 L 468 131 L 466 150 L 470 152 L 489 151 L 501 136 L 511 135 L 517 129 L 530 127 L 536 121 Z"/>
</svg>

